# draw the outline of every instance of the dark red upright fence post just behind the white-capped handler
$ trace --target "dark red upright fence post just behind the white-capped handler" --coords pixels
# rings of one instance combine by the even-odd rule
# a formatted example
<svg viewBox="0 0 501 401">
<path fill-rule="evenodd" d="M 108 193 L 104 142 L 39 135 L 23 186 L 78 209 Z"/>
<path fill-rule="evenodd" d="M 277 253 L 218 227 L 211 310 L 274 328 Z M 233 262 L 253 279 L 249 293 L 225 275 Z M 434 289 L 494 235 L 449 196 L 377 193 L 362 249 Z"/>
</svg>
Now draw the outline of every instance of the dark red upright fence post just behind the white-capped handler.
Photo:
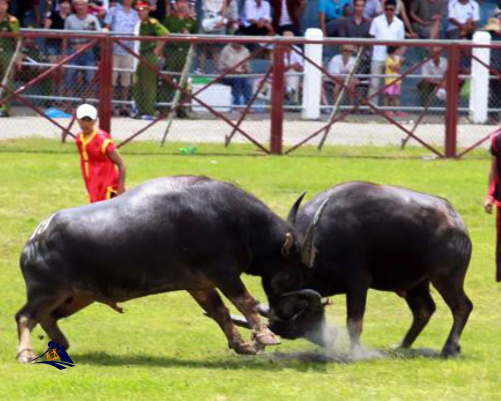
<svg viewBox="0 0 501 401">
<path fill-rule="evenodd" d="M 99 128 L 111 132 L 113 110 L 113 39 L 106 35 L 101 40 L 101 63 L 99 66 Z"/>
</svg>

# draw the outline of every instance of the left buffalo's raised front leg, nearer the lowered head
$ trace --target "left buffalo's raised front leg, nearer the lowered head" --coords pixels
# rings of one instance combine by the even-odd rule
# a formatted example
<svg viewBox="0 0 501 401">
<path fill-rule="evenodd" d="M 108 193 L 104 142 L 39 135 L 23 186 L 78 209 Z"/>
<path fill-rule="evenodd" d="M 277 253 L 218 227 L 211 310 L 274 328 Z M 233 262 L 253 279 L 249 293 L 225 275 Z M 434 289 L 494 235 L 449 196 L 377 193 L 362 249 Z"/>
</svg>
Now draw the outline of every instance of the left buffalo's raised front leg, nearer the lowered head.
<svg viewBox="0 0 501 401">
<path fill-rule="evenodd" d="M 240 278 L 230 280 L 229 285 L 220 284 L 218 288 L 227 297 L 233 305 L 245 317 L 256 341 L 262 345 L 278 345 L 280 340 L 275 334 L 263 323 L 261 316 L 258 313 L 258 301 L 256 301 L 247 291 Z"/>
</svg>

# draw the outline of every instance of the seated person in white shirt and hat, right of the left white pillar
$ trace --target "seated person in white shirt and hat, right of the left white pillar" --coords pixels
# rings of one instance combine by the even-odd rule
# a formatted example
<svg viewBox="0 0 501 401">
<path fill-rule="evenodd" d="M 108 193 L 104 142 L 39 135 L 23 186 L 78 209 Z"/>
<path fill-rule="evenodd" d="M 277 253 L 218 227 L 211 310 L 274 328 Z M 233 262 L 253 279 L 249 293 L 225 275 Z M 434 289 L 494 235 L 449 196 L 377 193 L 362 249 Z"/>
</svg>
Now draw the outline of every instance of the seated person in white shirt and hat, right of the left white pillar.
<svg viewBox="0 0 501 401">
<path fill-rule="evenodd" d="M 329 62 L 329 66 L 327 67 L 327 71 L 331 75 L 334 76 L 334 81 L 331 81 L 330 78 L 326 77 L 326 84 L 328 82 L 332 82 L 334 84 L 334 101 L 339 96 L 339 92 L 341 91 L 341 85 L 344 84 L 346 75 L 351 74 L 351 72 L 355 68 L 356 59 L 353 57 L 354 47 L 351 45 L 343 45 L 341 46 L 341 53 L 334 56 Z M 350 104 L 354 103 L 355 96 L 354 91 L 355 87 L 359 84 L 358 78 L 350 78 L 347 83 L 347 91 L 348 96 L 350 98 Z M 323 103 L 327 104 L 327 97 L 325 95 L 325 91 L 322 91 Z"/>
</svg>

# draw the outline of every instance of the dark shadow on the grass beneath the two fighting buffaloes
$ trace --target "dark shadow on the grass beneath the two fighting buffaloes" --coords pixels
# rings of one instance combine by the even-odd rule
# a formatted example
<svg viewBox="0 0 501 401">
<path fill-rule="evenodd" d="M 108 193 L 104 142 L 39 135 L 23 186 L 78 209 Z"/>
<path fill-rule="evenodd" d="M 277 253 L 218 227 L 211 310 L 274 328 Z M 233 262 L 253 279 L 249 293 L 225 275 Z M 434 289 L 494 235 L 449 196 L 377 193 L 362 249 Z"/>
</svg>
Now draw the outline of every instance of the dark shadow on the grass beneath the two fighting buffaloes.
<svg viewBox="0 0 501 401">
<path fill-rule="evenodd" d="M 309 369 L 325 371 L 329 364 L 351 364 L 355 362 L 378 359 L 413 359 L 420 357 L 441 359 L 438 350 L 419 348 L 410 350 L 365 350 L 349 356 L 316 351 L 267 352 L 257 356 L 230 355 L 228 358 L 200 358 L 190 359 L 181 356 L 154 356 L 154 355 L 111 355 L 107 352 L 86 352 L 72 354 L 77 364 L 100 366 L 150 366 L 150 367 L 188 367 L 198 369 L 251 369 L 277 371 L 282 369 Z"/>
</svg>

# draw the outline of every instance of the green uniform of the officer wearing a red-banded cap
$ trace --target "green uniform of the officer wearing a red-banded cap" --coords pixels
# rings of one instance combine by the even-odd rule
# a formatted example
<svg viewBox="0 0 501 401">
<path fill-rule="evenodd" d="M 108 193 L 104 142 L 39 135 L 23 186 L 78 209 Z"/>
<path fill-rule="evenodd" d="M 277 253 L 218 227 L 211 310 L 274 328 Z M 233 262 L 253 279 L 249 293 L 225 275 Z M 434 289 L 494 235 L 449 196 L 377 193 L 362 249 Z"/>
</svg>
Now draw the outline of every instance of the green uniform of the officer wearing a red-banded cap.
<svg viewBox="0 0 501 401">
<path fill-rule="evenodd" d="M 169 31 L 154 18 L 141 22 L 139 36 L 166 36 Z M 159 60 L 153 50 L 157 46 L 156 42 L 141 42 L 139 54 L 151 65 L 158 66 Z M 154 71 L 143 64 L 139 64 L 136 72 L 136 79 L 133 87 L 134 101 L 140 115 L 155 114 L 157 76 Z"/>
</svg>

